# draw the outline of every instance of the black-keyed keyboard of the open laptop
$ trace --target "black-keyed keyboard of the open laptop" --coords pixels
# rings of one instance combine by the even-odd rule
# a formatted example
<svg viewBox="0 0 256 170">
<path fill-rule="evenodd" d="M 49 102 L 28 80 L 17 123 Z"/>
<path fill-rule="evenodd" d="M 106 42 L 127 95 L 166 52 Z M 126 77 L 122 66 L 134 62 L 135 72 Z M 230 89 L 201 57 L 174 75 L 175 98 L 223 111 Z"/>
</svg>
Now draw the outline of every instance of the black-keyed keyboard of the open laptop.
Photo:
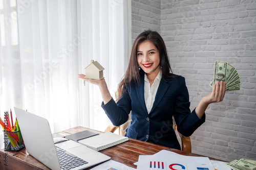
<svg viewBox="0 0 256 170">
<path fill-rule="evenodd" d="M 68 151 L 65 151 L 57 146 L 55 147 L 56 147 L 56 152 L 59 159 L 60 167 L 63 170 L 72 169 L 77 166 L 81 166 L 88 163 L 87 161 L 81 158 L 78 158 L 77 156 L 69 153 Z"/>
</svg>

